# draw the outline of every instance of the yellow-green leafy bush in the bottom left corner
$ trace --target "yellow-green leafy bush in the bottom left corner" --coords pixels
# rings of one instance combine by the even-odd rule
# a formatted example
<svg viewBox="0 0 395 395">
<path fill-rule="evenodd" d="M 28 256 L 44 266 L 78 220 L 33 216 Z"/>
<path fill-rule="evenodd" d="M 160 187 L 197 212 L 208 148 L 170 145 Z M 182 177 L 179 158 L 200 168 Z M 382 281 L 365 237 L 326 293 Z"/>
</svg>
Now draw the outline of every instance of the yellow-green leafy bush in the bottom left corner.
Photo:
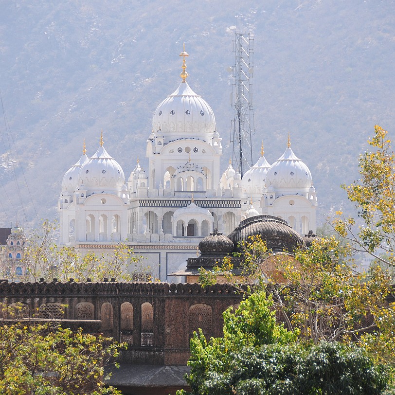
<svg viewBox="0 0 395 395">
<path fill-rule="evenodd" d="M 73 333 L 54 322 L 0 320 L 0 394 L 121 394 L 104 388 L 104 368 L 121 347 L 81 328 Z"/>
</svg>

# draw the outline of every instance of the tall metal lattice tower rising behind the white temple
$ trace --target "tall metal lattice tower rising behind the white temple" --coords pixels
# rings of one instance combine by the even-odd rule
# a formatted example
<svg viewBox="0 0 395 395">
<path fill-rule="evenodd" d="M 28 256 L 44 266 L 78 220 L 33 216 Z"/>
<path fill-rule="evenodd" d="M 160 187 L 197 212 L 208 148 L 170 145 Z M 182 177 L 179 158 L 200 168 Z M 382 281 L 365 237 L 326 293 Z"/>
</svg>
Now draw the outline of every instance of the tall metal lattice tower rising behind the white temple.
<svg viewBox="0 0 395 395">
<path fill-rule="evenodd" d="M 241 177 L 252 166 L 251 135 L 255 132 L 254 113 L 252 108 L 252 73 L 253 73 L 254 39 L 250 33 L 250 25 L 241 24 L 235 29 L 233 53 L 235 64 L 232 67 L 232 120 L 231 143 L 233 143 L 233 167 L 237 168 Z"/>
</svg>

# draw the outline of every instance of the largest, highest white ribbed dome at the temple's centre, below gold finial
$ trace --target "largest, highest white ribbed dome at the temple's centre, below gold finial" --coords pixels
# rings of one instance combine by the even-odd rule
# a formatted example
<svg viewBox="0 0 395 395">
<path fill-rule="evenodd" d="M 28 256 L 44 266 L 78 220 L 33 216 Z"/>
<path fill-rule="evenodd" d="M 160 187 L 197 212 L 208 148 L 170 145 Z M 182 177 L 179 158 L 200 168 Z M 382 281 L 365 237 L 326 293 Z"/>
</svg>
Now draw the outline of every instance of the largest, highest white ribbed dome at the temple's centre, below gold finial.
<svg viewBox="0 0 395 395">
<path fill-rule="evenodd" d="M 152 130 L 161 130 L 164 137 L 201 136 L 209 139 L 215 131 L 214 112 L 187 82 L 181 82 L 155 110 Z"/>
</svg>

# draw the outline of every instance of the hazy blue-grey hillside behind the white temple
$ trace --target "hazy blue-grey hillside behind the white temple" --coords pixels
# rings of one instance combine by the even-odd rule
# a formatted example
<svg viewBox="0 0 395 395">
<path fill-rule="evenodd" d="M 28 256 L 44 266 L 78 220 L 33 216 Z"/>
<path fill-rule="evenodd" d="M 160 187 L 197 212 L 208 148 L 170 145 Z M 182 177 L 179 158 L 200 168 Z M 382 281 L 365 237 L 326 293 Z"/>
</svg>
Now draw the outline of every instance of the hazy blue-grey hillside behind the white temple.
<svg viewBox="0 0 395 395">
<path fill-rule="evenodd" d="M 261 3 L 3 0 L 1 226 L 53 218 L 64 173 L 84 138 L 95 152 L 101 129 L 126 177 L 137 158 L 147 168 L 152 114 L 180 83 L 183 42 L 188 83 L 215 112 L 223 171 L 240 15 L 254 34 L 254 161 L 262 139 L 268 161 L 278 159 L 289 132 L 313 176 L 318 223 L 347 207 L 339 185 L 358 178 L 374 125 L 394 137 L 395 1 Z"/>
</svg>

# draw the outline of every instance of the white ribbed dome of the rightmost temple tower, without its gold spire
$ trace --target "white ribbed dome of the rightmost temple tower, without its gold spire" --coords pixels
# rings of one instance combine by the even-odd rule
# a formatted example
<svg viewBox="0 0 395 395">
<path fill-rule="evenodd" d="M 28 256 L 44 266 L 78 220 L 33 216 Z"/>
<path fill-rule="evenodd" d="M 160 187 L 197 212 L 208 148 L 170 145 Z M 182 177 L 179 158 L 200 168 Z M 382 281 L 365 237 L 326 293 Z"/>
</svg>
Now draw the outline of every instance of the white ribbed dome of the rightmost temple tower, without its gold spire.
<svg viewBox="0 0 395 395">
<path fill-rule="evenodd" d="M 266 186 L 271 185 L 276 192 L 308 192 L 312 182 L 310 170 L 289 146 L 270 166 L 266 175 Z"/>
</svg>

